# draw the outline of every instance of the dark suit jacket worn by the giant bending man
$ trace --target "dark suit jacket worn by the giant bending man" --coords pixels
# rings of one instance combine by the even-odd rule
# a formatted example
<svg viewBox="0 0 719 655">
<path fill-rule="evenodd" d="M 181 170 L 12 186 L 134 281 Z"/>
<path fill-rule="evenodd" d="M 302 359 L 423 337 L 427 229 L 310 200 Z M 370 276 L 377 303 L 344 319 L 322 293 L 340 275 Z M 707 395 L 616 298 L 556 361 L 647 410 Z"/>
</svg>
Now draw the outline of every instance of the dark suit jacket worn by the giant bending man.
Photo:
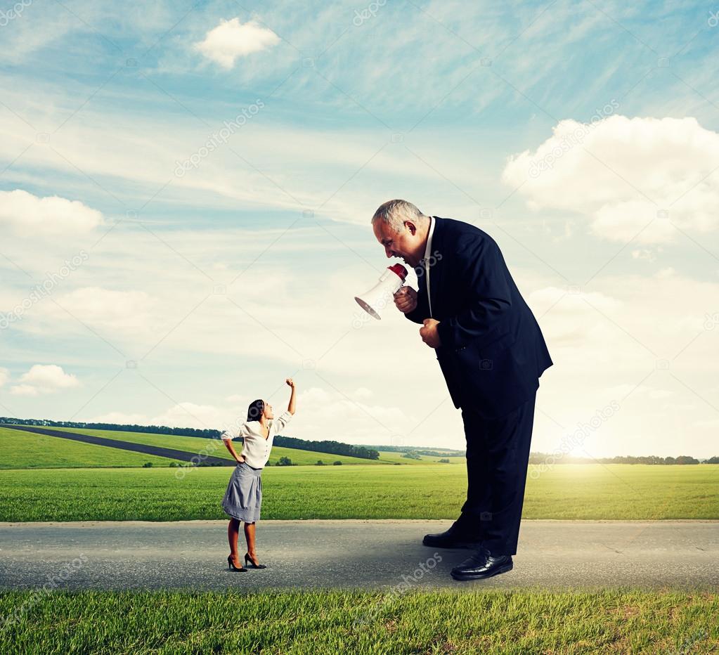
<svg viewBox="0 0 719 655">
<path fill-rule="evenodd" d="M 462 221 L 432 218 L 432 315 L 419 265 L 417 307 L 405 316 L 440 321 L 435 352 L 454 406 L 505 416 L 536 393 L 553 363 L 544 336 L 495 240 Z"/>
</svg>

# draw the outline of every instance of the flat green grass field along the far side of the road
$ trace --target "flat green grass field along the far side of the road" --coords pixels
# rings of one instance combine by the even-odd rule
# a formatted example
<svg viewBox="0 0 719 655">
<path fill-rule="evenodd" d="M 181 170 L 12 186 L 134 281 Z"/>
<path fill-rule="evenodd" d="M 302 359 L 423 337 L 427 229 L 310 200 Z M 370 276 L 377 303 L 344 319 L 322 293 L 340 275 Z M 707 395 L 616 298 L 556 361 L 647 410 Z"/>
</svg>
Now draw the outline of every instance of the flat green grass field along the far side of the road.
<svg viewBox="0 0 719 655">
<path fill-rule="evenodd" d="M 527 480 L 523 516 L 557 519 L 719 518 L 719 467 L 562 464 Z M 0 471 L 0 521 L 226 518 L 231 469 Z M 270 467 L 262 518 L 456 518 L 459 466 Z"/>
</svg>

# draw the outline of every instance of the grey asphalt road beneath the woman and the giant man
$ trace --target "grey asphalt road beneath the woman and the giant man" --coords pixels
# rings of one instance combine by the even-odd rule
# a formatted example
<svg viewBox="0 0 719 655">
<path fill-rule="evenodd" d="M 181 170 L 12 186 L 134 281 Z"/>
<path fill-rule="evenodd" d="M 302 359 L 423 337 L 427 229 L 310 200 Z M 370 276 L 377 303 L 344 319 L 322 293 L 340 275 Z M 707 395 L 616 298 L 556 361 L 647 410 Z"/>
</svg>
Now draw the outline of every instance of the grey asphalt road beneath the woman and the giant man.
<svg viewBox="0 0 719 655">
<path fill-rule="evenodd" d="M 246 573 L 227 570 L 226 521 L 0 523 L 0 587 L 719 588 L 719 521 L 523 521 L 513 571 L 472 582 L 449 575 L 471 551 L 421 545 L 450 523 L 260 521 L 267 569 Z"/>
</svg>

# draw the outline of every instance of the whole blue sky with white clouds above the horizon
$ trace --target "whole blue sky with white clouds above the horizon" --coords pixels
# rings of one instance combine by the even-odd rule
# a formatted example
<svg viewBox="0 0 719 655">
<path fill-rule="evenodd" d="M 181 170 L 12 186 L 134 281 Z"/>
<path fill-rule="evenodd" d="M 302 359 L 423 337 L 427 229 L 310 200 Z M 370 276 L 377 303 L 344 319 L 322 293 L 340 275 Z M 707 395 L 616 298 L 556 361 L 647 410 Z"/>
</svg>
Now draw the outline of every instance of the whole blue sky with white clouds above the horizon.
<svg viewBox="0 0 719 655">
<path fill-rule="evenodd" d="M 354 296 L 390 198 L 499 244 L 532 449 L 719 454 L 719 17 L 692 2 L 63 0 L 0 13 L 0 415 L 464 448 Z M 415 283 L 416 280 L 410 280 Z"/>
</svg>

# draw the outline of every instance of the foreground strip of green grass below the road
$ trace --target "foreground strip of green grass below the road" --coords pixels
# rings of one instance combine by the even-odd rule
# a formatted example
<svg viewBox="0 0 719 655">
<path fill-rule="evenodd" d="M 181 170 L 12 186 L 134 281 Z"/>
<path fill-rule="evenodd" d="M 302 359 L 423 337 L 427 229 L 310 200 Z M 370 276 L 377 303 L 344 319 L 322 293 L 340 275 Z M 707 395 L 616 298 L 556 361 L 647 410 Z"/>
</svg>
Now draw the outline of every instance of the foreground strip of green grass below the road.
<svg viewBox="0 0 719 655">
<path fill-rule="evenodd" d="M 0 633 L 3 652 L 43 655 L 719 649 L 719 596 L 709 592 L 13 591 L 0 593 L 0 613 L 17 616 Z"/>
</svg>

